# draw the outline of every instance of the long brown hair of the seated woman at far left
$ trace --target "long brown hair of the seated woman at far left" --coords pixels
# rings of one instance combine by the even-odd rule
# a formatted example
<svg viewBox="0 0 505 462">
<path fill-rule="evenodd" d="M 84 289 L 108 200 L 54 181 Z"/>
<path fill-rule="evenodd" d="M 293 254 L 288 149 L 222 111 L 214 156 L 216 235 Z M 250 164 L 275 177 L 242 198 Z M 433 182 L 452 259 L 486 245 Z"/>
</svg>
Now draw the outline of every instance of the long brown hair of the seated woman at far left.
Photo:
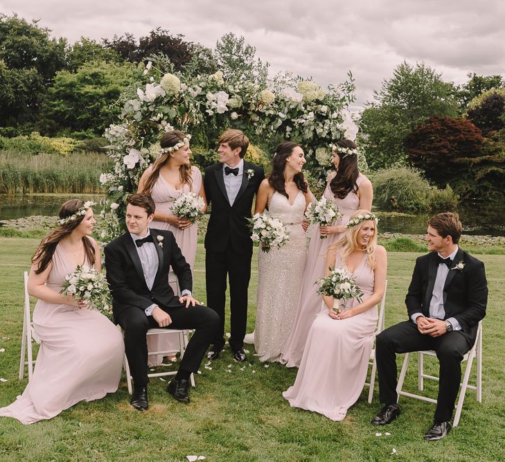
<svg viewBox="0 0 505 462">
<path fill-rule="evenodd" d="M 67 218 L 76 213 L 85 203 L 79 199 L 70 199 L 60 207 L 60 218 Z M 85 215 L 81 215 L 77 220 L 60 224 L 54 231 L 51 231 L 39 244 L 39 247 L 32 256 L 32 264 L 39 265 L 35 269 L 35 274 L 44 272 L 55 252 L 56 246 L 63 238 L 66 238 L 71 232 L 79 226 L 84 220 Z M 95 249 L 93 243 L 87 236 L 82 236 L 82 245 L 85 249 L 85 255 L 91 265 L 95 264 Z"/>
</svg>

